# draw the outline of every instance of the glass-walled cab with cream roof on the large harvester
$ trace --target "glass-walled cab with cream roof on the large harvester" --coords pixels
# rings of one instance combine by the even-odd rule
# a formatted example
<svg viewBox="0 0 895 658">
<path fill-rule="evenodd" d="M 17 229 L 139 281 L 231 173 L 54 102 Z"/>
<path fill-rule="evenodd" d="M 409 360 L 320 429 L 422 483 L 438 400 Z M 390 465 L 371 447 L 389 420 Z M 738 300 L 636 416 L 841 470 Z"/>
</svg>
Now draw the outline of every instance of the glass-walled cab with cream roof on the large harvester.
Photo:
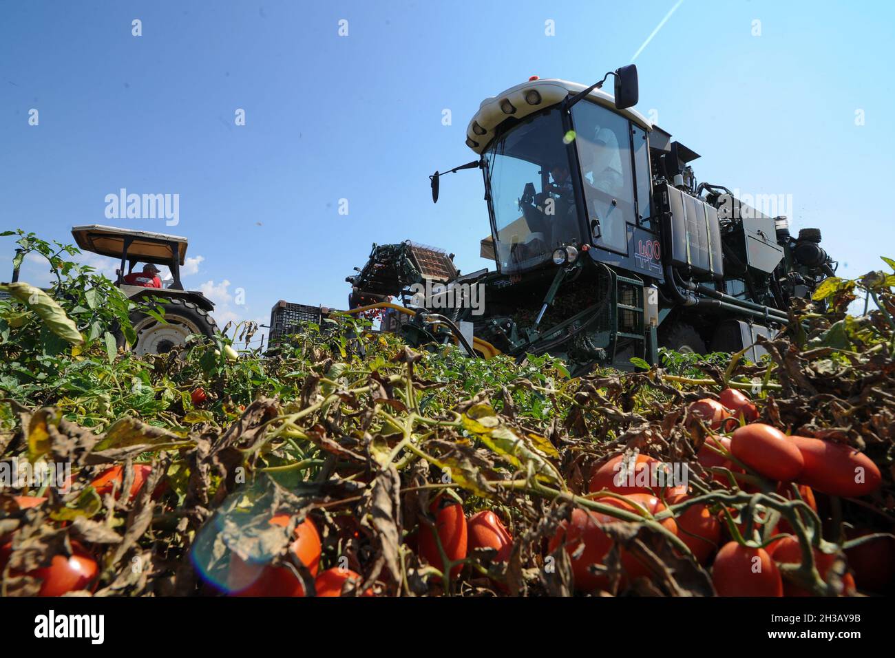
<svg viewBox="0 0 895 658">
<path fill-rule="evenodd" d="M 626 225 L 650 216 L 652 124 L 601 90 L 567 102 L 585 89 L 528 81 L 485 100 L 469 124 L 466 145 L 482 156 L 491 218 L 482 257 L 502 272 L 549 264 L 569 245 L 626 253 Z"/>
</svg>

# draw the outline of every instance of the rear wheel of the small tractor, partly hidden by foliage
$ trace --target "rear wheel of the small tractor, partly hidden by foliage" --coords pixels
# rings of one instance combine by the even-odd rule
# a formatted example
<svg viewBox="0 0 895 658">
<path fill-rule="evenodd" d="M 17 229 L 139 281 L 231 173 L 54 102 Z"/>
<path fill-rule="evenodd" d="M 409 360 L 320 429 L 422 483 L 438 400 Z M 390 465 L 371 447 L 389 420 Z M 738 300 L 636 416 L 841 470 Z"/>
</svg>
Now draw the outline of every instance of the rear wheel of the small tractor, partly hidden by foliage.
<svg viewBox="0 0 895 658">
<path fill-rule="evenodd" d="M 134 354 L 161 355 L 183 348 L 190 334 L 214 337 L 215 320 L 195 303 L 175 298 L 159 305 L 165 310 L 166 324 L 145 313 L 131 313 L 131 324 L 137 333 L 137 343 L 131 347 Z M 118 332 L 116 338 L 118 346 L 124 347 L 124 335 Z"/>
</svg>

